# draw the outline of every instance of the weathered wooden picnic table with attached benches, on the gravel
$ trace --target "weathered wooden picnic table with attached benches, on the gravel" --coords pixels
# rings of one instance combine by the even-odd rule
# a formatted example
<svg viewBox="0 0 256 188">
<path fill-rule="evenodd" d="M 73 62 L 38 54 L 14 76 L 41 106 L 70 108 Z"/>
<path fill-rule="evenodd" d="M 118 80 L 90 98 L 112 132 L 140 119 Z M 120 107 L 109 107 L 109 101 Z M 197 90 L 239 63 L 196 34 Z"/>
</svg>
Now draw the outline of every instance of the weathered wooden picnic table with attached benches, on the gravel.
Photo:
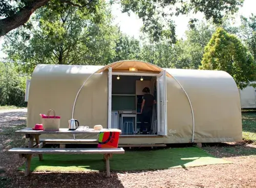
<svg viewBox="0 0 256 188">
<path fill-rule="evenodd" d="M 39 160 L 43 160 L 42 154 L 103 154 L 105 165 L 106 165 L 106 176 L 110 176 L 110 156 L 113 154 L 124 154 L 123 148 L 42 148 L 43 143 L 39 142 L 39 135 L 41 134 L 98 134 L 99 132 L 121 132 L 119 129 L 102 129 L 100 131 L 95 131 L 89 129 L 88 131 L 76 131 L 68 129 L 59 129 L 58 131 L 44 131 L 44 130 L 33 130 L 32 128 L 24 128 L 15 131 L 16 133 L 26 134 L 26 138 L 29 138 L 28 148 L 12 148 L 8 150 L 9 153 L 19 154 L 20 158 L 26 158 L 26 170 L 25 176 L 30 174 L 30 164 L 32 154 L 38 154 Z M 34 144 L 34 140 L 35 143 Z M 52 142 L 60 142 L 62 139 L 51 139 Z M 97 140 L 97 139 L 96 139 Z M 72 142 L 96 142 L 95 139 L 70 139 Z M 98 142 L 98 141 L 97 141 Z"/>
</svg>

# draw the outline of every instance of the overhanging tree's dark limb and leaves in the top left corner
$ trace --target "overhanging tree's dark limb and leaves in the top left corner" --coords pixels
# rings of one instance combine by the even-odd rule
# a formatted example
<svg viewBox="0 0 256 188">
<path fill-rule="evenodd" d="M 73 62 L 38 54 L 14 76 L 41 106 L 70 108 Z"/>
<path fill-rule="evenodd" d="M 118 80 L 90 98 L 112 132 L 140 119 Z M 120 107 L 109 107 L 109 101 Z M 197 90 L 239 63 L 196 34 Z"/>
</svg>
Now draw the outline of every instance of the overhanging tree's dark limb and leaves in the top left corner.
<svg viewBox="0 0 256 188">
<path fill-rule="evenodd" d="M 0 2 L 0 36 L 6 35 L 13 29 L 23 26 L 32 13 L 40 7 L 63 11 L 70 6 L 78 7 L 90 14 L 97 13 L 98 4 L 102 0 L 13 0 Z"/>
</svg>

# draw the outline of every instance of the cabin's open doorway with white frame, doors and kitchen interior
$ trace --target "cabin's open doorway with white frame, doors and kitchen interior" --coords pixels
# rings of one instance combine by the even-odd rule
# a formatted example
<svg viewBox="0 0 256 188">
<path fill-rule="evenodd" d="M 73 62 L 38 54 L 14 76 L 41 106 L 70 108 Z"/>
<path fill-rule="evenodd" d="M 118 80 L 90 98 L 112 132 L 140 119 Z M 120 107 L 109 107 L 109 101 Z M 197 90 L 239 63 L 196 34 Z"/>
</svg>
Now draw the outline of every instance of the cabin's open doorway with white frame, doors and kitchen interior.
<svg viewBox="0 0 256 188">
<path fill-rule="evenodd" d="M 142 134 L 167 135 L 166 81 L 161 74 L 112 73 L 109 69 L 109 128 L 121 129 L 123 135 L 141 135 L 141 104 L 144 87 L 150 89 L 157 104 L 150 121 L 144 121 Z"/>
</svg>

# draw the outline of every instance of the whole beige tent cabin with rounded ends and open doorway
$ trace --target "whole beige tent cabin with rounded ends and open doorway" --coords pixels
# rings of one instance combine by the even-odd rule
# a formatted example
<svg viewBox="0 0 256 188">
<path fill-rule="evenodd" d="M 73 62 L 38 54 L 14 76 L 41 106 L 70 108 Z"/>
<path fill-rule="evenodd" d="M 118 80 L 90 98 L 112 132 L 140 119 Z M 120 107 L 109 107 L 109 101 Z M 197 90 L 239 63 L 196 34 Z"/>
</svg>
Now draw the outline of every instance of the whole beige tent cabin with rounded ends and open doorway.
<svg viewBox="0 0 256 188">
<path fill-rule="evenodd" d="M 151 122 L 145 122 L 151 133 L 141 135 L 137 131 L 145 86 L 157 104 Z M 106 66 L 39 64 L 30 81 L 27 127 L 41 123 L 39 114 L 49 109 L 61 116 L 60 128 L 68 128 L 72 114 L 80 126 L 119 128 L 119 144 L 242 141 L 239 89 L 223 71 L 160 68 L 141 61 Z"/>
</svg>

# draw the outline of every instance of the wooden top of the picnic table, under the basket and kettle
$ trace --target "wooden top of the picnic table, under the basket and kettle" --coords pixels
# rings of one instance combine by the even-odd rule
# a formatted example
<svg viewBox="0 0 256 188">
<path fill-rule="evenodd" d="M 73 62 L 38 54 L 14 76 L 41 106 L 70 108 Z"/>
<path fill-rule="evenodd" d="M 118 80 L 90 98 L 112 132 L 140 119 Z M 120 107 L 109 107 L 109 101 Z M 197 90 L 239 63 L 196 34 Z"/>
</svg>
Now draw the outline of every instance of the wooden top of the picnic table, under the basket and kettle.
<svg viewBox="0 0 256 188">
<path fill-rule="evenodd" d="M 49 130 L 33 130 L 32 128 L 24 128 L 15 131 L 16 133 L 23 133 L 23 134 L 98 134 L 99 132 L 120 132 L 120 129 L 101 129 L 94 130 L 88 129 L 86 131 L 77 131 L 77 130 L 69 130 L 68 128 L 60 128 L 58 131 L 49 131 Z"/>
</svg>

